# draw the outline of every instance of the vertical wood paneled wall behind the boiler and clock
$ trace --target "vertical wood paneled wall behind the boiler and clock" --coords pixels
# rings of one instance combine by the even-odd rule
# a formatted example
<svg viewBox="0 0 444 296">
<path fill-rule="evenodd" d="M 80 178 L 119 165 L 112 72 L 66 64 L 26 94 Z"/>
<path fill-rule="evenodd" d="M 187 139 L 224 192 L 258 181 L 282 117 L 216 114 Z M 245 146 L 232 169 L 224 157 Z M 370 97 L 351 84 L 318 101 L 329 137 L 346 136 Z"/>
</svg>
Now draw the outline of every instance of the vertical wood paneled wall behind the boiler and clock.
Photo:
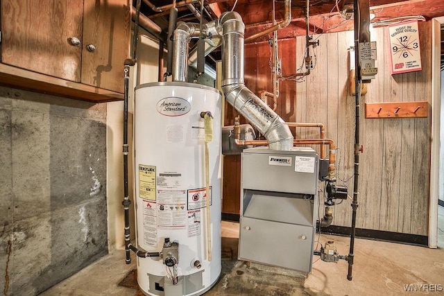
<svg viewBox="0 0 444 296">
<path fill-rule="evenodd" d="M 361 98 L 360 137 L 364 153 L 359 164 L 357 227 L 427 235 L 431 119 L 365 119 L 364 103 L 431 101 L 431 23 L 421 22 L 422 71 L 391 75 L 387 28 L 371 31 L 377 42 L 378 73 Z M 334 139 L 338 184 L 353 193 L 355 97 L 350 95 L 349 53 L 352 31 L 315 35 L 320 45 L 313 51 L 314 70 L 302 82 L 282 81 L 276 112 L 285 121 L 325 124 L 326 137 Z M 259 94 L 271 92 L 268 43 L 246 45 L 246 85 Z M 280 40 L 282 75 L 295 73 L 304 62 L 305 36 Z M 225 124 L 232 124 L 228 106 Z M 429 113 L 430 114 L 430 113 Z M 296 139 L 318 138 L 318 130 L 293 129 Z M 314 146 L 317 151 L 319 147 Z M 238 162 L 231 162 L 238 165 Z M 225 164 L 225 171 L 230 171 Z M 226 181 L 226 180 L 225 180 Z M 237 180 L 239 182 L 239 180 Z M 231 181 L 232 184 L 234 184 Z M 224 184 L 232 186 L 229 183 Z M 321 184 L 323 186 L 323 184 Z M 321 193 L 322 196 L 322 193 Z M 224 202 L 237 196 L 227 196 Z M 350 200 L 335 207 L 333 225 L 350 226 Z M 322 209 L 321 209 L 322 211 Z M 237 210 L 239 214 L 239 209 Z"/>
</svg>

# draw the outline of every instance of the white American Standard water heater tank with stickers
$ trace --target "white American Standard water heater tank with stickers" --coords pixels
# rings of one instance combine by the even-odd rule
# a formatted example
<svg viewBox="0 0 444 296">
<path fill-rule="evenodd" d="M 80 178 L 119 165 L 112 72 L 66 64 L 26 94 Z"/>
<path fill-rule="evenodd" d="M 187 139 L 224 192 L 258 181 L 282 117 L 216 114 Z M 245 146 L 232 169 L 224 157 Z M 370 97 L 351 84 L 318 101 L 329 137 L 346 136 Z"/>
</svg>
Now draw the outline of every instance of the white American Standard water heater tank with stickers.
<svg viewBox="0 0 444 296">
<path fill-rule="evenodd" d="M 213 117 L 212 142 L 207 144 L 210 232 L 202 112 Z M 217 89 L 186 82 L 136 87 L 135 193 L 137 247 L 163 252 L 158 257 L 137 257 L 139 287 L 146 295 L 205 293 L 221 274 L 221 94 Z M 164 247 L 166 238 L 173 245 Z"/>
</svg>

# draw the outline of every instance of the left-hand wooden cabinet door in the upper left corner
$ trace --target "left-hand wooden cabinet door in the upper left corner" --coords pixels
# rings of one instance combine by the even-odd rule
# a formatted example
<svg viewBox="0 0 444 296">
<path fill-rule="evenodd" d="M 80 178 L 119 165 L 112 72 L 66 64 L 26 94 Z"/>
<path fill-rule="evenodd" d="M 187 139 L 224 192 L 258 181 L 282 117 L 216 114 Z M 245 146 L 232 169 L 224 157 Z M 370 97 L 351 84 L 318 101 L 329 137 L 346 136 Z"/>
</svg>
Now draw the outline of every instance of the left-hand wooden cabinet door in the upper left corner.
<svg viewBox="0 0 444 296">
<path fill-rule="evenodd" d="M 1 62 L 80 82 L 83 0 L 1 0 Z"/>
</svg>

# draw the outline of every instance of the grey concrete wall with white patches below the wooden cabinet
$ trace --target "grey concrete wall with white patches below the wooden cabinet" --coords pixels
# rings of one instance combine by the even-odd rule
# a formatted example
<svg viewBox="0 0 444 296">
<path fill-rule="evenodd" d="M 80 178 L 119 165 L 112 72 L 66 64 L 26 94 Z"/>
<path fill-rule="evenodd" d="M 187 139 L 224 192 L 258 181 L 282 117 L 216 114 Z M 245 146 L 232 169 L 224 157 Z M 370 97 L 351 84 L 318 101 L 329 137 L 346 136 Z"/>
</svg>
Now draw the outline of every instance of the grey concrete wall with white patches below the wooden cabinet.
<svg viewBox="0 0 444 296">
<path fill-rule="evenodd" d="M 106 104 L 0 87 L 0 189 L 3 295 L 107 254 Z"/>
</svg>

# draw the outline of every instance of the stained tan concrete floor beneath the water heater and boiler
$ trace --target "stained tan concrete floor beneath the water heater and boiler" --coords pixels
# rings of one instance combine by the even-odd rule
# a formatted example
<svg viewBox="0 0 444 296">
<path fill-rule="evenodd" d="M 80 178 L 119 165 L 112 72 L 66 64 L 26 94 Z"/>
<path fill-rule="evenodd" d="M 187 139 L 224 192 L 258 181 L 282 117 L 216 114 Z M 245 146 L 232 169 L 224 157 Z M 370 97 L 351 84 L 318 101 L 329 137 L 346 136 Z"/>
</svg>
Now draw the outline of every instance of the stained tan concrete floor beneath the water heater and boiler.
<svg viewBox="0 0 444 296">
<path fill-rule="evenodd" d="M 265 272 L 262 268 L 255 268 L 257 265 L 248 268 L 244 262 L 235 260 L 239 224 L 223 222 L 223 258 L 226 259 L 222 261 L 221 279 L 205 295 L 444 295 L 443 209 L 440 210 L 440 225 L 441 247 L 437 250 L 357 239 L 353 279 L 348 281 L 346 261 L 326 263 L 318 260 L 316 256 L 313 271 L 305 279 Z M 322 234 L 320 241 L 321 243 L 335 241 L 339 253 L 348 254 L 347 237 Z M 137 289 L 132 270 L 134 273 L 135 260 L 132 264 L 126 265 L 123 251 L 117 251 L 41 295 L 142 296 L 143 294 Z M 133 281 L 133 284 L 125 284 L 123 279 Z M 420 284 L 429 284 L 430 286 L 427 286 L 429 290 L 425 291 L 425 288 L 422 288 L 420 291 L 423 287 Z M 412 285 L 409 287 L 418 291 L 406 291 L 404 285 Z M 432 289 L 438 291 L 431 291 Z"/>
</svg>

